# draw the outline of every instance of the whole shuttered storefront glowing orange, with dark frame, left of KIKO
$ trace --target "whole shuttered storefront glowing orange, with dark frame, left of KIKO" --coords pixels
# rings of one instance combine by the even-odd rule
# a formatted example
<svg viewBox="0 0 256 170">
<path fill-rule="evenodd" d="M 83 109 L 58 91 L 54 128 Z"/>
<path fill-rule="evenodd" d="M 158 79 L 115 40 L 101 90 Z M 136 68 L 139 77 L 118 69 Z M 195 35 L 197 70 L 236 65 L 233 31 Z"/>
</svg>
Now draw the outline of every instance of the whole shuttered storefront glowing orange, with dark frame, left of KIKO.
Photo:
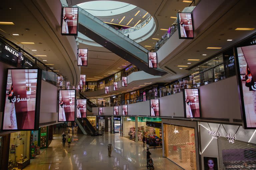
<svg viewBox="0 0 256 170">
<path fill-rule="evenodd" d="M 162 119 L 164 157 L 185 170 L 199 170 L 197 122 Z"/>
</svg>

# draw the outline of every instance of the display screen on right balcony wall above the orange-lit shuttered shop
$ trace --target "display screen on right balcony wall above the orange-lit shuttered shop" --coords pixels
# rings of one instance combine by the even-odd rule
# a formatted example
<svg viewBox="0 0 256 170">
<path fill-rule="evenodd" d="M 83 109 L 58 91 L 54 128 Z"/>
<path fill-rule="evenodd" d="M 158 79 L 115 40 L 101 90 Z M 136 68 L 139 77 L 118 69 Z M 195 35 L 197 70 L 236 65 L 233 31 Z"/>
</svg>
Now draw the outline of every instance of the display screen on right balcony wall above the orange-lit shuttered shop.
<svg viewBox="0 0 256 170">
<path fill-rule="evenodd" d="M 185 118 L 200 118 L 200 99 L 198 89 L 184 89 Z"/>
</svg>

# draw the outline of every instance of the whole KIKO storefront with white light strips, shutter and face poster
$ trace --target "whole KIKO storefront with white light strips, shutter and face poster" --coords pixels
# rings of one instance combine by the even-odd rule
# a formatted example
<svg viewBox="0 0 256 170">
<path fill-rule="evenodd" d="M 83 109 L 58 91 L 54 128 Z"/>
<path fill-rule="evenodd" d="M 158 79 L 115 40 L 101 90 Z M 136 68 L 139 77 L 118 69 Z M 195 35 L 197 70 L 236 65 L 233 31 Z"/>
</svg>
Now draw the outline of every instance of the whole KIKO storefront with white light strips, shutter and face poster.
<svg viewBox="0 0 256 170">
<path fill-rule="evenodd" d="M 201 167 L 256 169 L 256 130 L 238 125 L 198 122 Z"/>
</svg>

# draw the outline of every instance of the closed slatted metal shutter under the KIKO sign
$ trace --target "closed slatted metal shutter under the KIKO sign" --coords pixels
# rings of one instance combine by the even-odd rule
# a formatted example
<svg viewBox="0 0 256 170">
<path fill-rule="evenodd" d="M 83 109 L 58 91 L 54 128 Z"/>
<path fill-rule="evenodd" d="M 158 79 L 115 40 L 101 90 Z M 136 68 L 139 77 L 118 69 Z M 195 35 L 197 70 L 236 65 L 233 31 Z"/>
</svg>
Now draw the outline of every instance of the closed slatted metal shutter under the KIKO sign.
<svg viewBox="0 0 256 170">
<path fill-rule="evenodd" d="M 226 137 L 218 137 L 220 169 L 256 169 L 256 144 L 234 140 L 229 143 Z M 248 168 L 247 168 L 248 169 Z"/>
</svg>

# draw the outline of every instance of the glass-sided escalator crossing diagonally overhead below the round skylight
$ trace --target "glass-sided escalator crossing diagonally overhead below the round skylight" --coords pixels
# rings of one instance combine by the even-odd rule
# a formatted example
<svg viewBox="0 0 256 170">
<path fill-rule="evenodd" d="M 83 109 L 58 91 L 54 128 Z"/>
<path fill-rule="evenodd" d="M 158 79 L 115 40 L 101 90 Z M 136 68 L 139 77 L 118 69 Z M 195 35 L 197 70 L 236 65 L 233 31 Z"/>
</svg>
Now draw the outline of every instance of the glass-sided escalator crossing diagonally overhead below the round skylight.
<svg viewBox="0 0 256 170">
<path fill-rule="evenodd" d="M 82 8 L 79 8 L 78 12 L 78 31 L 81 34 L 101 44 L 105 48 L 149 74 L 155 76 L 162 76 L 166 74 L 166 72 L 161 69 L 148 67 L 149 50 L 89 14 Z"/>
</svg>

